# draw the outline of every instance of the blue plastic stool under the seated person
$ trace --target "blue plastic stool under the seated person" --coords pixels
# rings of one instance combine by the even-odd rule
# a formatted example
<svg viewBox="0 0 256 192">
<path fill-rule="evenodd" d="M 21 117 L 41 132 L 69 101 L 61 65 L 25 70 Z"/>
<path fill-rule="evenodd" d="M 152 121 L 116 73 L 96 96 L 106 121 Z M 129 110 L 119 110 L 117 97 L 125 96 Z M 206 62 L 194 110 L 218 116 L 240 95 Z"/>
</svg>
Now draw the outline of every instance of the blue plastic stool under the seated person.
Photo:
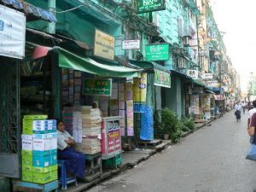
<svg viewBox="0 0 256 192">
<path fill-rule="evenodd" d="M 61 167 L 61 177 L 59 178 L 59 183 L 61 183 L 61 189 L 63 190 L 67 189 L 67 184 L 69 183 L 76 183 L 76 185 L 78 185 L 76 177 L 67 177 L 66 162 L 67 160 L 58 160 L 58 166 Z"/>
</svg>

